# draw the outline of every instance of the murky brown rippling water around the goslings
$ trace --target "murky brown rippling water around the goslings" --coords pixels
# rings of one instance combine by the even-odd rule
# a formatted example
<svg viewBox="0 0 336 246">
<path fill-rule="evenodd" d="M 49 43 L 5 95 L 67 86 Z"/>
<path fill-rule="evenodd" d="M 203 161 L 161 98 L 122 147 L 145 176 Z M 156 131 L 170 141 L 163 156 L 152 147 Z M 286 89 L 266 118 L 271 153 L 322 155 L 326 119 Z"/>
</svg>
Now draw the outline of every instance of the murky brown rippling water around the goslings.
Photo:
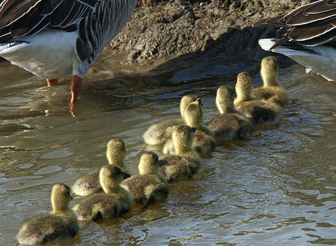
<svg viewBox="0 0 336 246">
<path fill-rule="evenodd" d="M 53 183 L 71 185 L 105 165 L 110 138 L 125 139 L 126 163 L 137 172 L 141 134 L 178 114 L 181 95 L 199 94 L 210 119 L 217 114 L 216 88 L 256 64 L 223 59 L 130 78 L 118 96 L 87 88 L 74 117 L 68 83 L 43 87 L 0 63 L 0 245 L 13 245 L 23 220 L 50 209 Z M 336 84 L 306 76 L 299 65 L 283 66 L 280 74 L 292 99 L 280 125 L 217 147 L 191 181 L 172 185 L 166 201 L 81 223 L 80 236 L 66 244 L 336 244 Z"/>
</svg>

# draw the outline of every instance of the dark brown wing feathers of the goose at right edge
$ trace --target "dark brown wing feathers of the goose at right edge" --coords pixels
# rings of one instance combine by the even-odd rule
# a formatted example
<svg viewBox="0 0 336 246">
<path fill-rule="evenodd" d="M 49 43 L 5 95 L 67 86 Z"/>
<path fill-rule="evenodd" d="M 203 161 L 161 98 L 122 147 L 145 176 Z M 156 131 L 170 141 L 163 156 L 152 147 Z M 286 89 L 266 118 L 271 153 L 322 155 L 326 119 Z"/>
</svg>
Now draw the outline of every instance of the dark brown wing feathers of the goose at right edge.
<svg viewBox="0 0 336 246">
<path fill-rule="evenodd" d="M 262 19 L 253 24 L 289 28 L 281 42 L 273 48 L 293 41 L 301 45 L 315 46 L 336 39 L 336 0 L 320 0 L 296 8 L 285 16 Z"/>
</svg>

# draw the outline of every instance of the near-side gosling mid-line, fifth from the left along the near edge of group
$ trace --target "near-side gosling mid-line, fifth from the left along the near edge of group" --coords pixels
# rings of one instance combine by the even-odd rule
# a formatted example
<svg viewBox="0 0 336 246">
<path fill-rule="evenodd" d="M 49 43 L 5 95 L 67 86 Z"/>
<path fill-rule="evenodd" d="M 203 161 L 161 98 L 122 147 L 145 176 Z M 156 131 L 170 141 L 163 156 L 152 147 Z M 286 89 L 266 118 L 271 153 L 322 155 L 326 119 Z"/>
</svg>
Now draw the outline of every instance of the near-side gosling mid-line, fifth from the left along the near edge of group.
<svg viewBox="0 0 336 246">
<path fill-rule="evenodd" d="M 199 154 L 192 148 L 195 127 L 178 125 L 172 132 L 175 154 L 165 154 L 159 159 L 159 172 L 168 182 L 191 178 L 201 165 Z"/>
</svg>

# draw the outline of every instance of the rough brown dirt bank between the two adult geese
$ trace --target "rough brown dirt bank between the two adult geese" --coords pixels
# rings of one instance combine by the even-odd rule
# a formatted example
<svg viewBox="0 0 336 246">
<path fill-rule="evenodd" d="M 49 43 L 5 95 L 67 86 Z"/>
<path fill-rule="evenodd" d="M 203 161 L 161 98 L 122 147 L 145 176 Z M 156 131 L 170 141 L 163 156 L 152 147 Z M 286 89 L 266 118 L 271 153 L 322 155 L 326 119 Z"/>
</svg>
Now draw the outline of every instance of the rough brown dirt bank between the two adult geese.
<svg viewBox="0 0 336 246">
<path fill-rule="evenodd" d="M 174 58 L 209 60 L 228 54 L 259 59 L 268 53 L 262 37 L 279 37 L 274 28 L 251 28 L 254 21 L 293 10 L 308 0 L 143 0 L 132 20 L 103 52 L 126 52 L 121 65 L 150 65 Z M 124 57 L 125 58 L 125 57 Z M 171 63 L 166 68 L 174 69 Z"/>
</svg>

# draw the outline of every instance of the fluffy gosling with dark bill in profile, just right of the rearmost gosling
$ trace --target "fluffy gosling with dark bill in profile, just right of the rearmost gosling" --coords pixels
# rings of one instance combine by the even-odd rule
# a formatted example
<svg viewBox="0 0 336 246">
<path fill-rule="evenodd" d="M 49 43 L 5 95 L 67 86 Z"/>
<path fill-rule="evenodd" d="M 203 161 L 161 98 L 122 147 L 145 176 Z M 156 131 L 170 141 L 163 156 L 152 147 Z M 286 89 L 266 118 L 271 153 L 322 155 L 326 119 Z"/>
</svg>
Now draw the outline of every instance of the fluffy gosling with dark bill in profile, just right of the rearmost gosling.
<svg viewBox="0 0 336 246">
<path fill-rule="evenodd" d="M 103 192 L 92 194 L 75 205 L 80 221 L 98 221 L 101 218 L 121 216 L 130 209 L 133 198 L 127 189 L 121 187 L 125 172 L 117 165 L 107 165 L 99 172 Z"/>
</svg>

